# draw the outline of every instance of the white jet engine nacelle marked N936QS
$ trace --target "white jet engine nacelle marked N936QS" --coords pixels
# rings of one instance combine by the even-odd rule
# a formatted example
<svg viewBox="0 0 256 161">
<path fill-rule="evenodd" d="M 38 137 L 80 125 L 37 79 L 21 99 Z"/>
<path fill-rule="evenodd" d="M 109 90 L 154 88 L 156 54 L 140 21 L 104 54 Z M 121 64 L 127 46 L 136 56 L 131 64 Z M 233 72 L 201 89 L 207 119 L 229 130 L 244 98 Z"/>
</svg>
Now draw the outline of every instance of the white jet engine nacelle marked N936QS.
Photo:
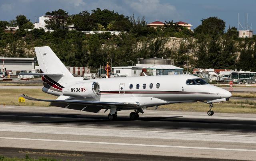
<svg viewBox="0 0 256 161">
<path fill-rule="evenodd" d="M 100 84 L 98 82 L 81 82 L 62 89 L 65 96 L 74 97 L 92 97 L 100 92 Z"/>
</svg>

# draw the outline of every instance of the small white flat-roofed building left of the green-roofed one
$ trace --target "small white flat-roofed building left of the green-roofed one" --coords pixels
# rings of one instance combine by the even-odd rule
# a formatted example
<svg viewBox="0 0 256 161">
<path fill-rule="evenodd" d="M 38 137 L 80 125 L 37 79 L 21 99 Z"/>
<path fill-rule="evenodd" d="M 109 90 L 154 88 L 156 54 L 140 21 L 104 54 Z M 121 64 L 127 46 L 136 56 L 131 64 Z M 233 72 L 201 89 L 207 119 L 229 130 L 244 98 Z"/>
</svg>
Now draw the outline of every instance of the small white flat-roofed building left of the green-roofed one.
<svg viewBox="0 0 256 161">
<path fill-rule="evenodd" d="M 142 72 L 142 67 L 137 66 L 128 66 L 128 67 L 112 67 L 114 73 L 118 75 L 127 75 L 128 77 L 137 77 L 140 76 Z"/>
</svg>

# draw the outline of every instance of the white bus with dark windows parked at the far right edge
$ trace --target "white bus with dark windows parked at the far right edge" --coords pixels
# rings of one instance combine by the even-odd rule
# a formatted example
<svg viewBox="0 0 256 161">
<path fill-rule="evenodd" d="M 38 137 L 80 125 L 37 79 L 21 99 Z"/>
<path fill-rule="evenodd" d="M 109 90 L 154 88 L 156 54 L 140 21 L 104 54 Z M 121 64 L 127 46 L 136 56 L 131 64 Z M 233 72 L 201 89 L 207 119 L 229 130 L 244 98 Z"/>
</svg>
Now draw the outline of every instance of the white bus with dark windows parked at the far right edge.
<svg viewBox="0 0 256 161">
<path fill-rule="evenodd" d="M 232 72 L 231 79 L 233 82 L 255 82 L 256 79 L 256 72 L 248 72 L 248 71 L 241 71 L 241 72 Z"/>
</svg>

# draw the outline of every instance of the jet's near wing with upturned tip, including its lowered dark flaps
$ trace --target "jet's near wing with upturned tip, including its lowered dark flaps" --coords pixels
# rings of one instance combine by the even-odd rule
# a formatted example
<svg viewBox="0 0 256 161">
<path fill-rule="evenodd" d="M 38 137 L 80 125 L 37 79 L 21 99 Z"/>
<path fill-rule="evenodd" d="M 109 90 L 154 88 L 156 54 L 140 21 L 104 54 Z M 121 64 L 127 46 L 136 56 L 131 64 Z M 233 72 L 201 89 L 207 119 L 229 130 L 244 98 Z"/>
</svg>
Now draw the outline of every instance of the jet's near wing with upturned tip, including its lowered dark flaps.
<svg viewBox="0 0 256 161">
<path fill-rule="evenodd" d="M 82 110 L 88 112 L 99 112 L 102 108 L 109 109 L 111 106 L 117 106 L 118 108 L 124 107 L 136 107 L 140 104 L 138 102 L 103 102 L 103 101 L 85 101 L 85 100 L 44 100 L 33 98 L 25 94 L 20 94 L 28 100 L 51 102 L 50 106 L 57 106 L 62 108 L 70 108 L 74 110 Z"/>
</svg>

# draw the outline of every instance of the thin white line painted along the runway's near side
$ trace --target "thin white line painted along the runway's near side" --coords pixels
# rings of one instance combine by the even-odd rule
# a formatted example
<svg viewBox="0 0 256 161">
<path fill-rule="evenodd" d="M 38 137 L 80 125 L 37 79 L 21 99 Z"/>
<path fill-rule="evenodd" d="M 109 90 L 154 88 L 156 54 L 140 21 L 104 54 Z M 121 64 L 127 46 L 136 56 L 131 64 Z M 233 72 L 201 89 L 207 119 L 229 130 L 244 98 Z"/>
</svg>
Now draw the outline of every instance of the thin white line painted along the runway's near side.
<svg viewBox="0 0 256 161">
<path fill-rule="evenodd" d="M 204 150 L 226 150 L 226 151 L 250 151 L 250 152 L 256 152 L 256 150 L 252 150 L 252 149 L 229 149 L 229 148 L 215 148 L 215 147 L 189 147 L 189 146 L 173 146 L 173 145 L 110 143 L 110 142 L 96 142 L 96 141 L 32 139 L 32 138 L 20 138 L 20 137 L 0 137 L 0 139 L 16 139 L 16 140 L 32 140 L 32 141 L 56 141 L 56 142 L 68 142 L 68 143 L 91 143 L 91 144 L 128 145 L 128 146 L 144 146 L 144 147 L 168 147 L 168 148 L 182 148 L 182 149 L 204 149 Z"/>
</svg>

